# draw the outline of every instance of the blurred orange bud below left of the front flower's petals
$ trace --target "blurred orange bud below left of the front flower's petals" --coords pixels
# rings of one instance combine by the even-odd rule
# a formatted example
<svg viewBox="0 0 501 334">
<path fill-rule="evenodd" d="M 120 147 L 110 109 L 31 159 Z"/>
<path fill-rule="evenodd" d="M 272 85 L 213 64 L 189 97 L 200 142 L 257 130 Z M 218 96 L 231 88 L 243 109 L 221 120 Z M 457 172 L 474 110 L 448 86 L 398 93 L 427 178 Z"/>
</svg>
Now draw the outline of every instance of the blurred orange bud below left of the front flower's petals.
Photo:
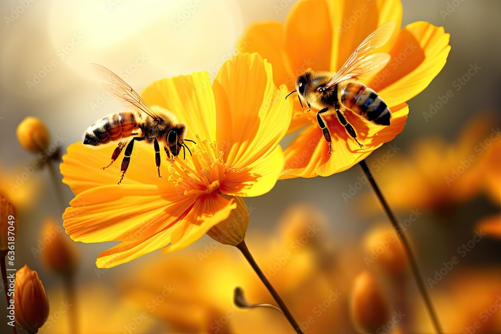
<svg viewBox="0 0 501 334">
<path fill-rule="evenodd" d="M 79 252 L 75 243 L 54 219 L 46 219 L 40 240 L 45 245 L 42 250 L 44 264 L 61 275 L 72 275 L 78 265 Z"/>
</svg>

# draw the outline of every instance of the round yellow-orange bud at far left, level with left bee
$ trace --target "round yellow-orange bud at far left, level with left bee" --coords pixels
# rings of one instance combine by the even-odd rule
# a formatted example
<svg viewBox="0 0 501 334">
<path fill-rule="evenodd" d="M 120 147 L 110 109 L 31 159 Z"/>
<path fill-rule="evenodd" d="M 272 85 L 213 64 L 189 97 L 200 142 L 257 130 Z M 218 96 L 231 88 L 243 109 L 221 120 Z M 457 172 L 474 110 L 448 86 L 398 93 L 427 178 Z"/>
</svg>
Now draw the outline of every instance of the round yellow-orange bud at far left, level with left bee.
<svg viewBox="0 0 501 334">
<path fill-rule="evenodd" d="M 19 143 L 27 151 L 38 153 L 49 147 L 49 131 L 36 117 L 25 118 L 16 129 Z"/>
</svg>

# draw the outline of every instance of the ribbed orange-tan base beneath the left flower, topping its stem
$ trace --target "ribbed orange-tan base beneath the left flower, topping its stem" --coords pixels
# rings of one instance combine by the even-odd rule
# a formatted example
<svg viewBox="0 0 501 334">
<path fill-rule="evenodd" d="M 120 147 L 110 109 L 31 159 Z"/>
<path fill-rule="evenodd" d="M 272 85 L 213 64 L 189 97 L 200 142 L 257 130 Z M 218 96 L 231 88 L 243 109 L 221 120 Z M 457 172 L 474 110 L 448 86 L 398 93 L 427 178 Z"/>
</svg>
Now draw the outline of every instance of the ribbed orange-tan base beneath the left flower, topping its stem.
<svg viewBox="0 0 501 334">
<path fill-rule="evenodd" d="M 236 246 L 245 237 L 249 223 L 249 213 L 243 198 L 237 196 L 232 198 L 235 200 L 236 208 L 231 211 L 226 220 L 221 221 L 208 230 L 207 235 L 217 242 Z"/>
</svg>

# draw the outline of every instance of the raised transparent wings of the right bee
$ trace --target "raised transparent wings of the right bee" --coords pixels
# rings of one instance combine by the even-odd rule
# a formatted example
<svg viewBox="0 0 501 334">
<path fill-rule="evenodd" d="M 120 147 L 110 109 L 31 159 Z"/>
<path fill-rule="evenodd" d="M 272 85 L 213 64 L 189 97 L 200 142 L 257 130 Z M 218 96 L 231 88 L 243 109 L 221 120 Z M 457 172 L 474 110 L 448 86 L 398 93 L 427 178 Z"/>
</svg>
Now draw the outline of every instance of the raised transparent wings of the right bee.
<svg viewBox="0 0 501 334">
<path fill-rule="evenodd" d="M 377 53 L 365 57 L 369 52 L 376 50 L 388 42 L 395 30 L 395 22 L 388 21 L 372 32 L 351 54 L 346 63 L 339 69 L 336 75 L 327 83 L 332 87 L 343 80 L 361 76 L 370 71 L 384 67 L 390 61 L 391 56 L 386 53 Z"/>
</svg>

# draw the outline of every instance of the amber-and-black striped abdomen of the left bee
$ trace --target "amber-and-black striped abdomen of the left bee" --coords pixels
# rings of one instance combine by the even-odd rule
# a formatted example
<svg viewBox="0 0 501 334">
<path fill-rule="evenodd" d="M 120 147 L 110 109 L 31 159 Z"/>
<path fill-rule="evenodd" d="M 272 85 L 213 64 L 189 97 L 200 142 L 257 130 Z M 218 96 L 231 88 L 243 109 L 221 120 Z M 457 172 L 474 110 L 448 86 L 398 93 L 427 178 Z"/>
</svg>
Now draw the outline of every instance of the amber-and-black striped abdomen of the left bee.
<svg viewBox="0 0 501 334">
<path fill-rule="evenodd" d="M 137 115 L 131 111 L 110 114 L 92 124 L 84 133 L 84 145 L 104 145 L 127 138 L 138 130 Z"/>
</svg>

